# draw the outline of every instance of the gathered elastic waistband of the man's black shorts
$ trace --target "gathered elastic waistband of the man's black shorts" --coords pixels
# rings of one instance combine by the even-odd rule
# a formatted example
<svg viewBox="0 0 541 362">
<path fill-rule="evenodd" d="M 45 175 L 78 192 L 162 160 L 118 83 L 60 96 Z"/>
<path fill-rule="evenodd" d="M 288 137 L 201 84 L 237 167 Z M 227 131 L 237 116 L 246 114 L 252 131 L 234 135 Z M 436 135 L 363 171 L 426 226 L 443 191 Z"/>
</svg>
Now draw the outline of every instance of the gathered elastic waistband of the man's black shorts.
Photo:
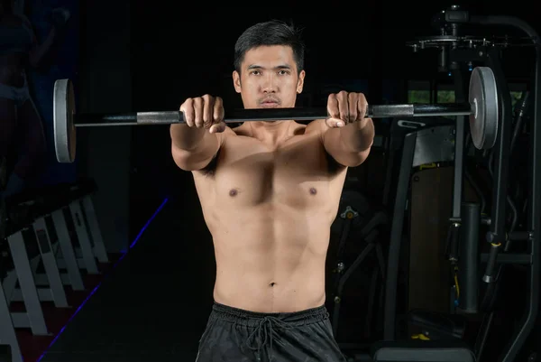
<svg viewBox="0 0 541 362">
<path fill-rule="evenodd" d="M 303 311 L 265 313 L 260 311 L 245 311 L 215 302 L 212 307 L 211 317 L 248 327 L 257 327 L 261 324 L 262 320 L 269 319 L 280 320 L 291 326 L 298 326 L 327 320 L 329 318 L 329 312 L 326 310 L 325 305 Z"/>
</svg>

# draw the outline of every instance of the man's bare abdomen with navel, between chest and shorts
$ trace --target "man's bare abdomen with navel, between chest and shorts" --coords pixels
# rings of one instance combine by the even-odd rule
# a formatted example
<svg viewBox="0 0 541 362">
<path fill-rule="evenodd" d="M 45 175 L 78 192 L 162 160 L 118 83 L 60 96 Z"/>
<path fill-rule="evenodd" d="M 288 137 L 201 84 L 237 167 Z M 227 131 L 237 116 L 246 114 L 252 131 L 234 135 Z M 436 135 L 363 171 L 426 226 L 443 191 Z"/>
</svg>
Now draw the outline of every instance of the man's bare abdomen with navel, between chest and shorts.
<svg viewBox="0 0 541 362">
<path fill-rule="evenodd" d="M 311 210 L 264 203 L 206 215 L 215 245 L 215 302 L 260 312 L 323 305 L 332 219 Z"/>
</svg>

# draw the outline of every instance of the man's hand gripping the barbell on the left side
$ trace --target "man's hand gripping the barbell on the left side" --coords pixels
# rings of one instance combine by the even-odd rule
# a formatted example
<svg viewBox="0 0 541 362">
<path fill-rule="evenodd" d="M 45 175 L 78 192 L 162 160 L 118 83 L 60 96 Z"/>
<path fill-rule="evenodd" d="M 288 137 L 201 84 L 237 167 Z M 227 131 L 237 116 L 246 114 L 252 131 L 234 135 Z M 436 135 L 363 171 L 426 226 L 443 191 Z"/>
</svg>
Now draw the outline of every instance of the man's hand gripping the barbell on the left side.
<svg viewBox="0 0 541 362">
<path fill-rule="evenodd" d="M 225 131 L 224 103 L 221 97 L 205 95 L 188 98 L 180 106 L 188 127 L 208 129 L 211 134 Z"/>
</svg>

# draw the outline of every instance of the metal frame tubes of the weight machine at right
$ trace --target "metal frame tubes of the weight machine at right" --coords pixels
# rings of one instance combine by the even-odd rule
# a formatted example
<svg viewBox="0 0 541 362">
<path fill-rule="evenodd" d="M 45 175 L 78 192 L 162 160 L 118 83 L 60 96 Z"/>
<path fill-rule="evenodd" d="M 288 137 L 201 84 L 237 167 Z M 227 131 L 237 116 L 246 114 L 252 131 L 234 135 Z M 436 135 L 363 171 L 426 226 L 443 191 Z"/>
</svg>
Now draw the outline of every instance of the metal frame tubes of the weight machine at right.
<svg viewBox="0 0 541 362">
<path fill-rule="evenodd" d="M 456 13 L 459 14 L 459 13 Z M 487 66 L 494 71 L 497 80 L 498 93 L 500 96 L 500 119 L 498 139 L 495 144 L 494 174 L 491 212 L 491 231 L 487 235 L 487 241 L 491 243 L 491 252 L 481 254 L 481 262 L 487 263 L 487 270 L 483 281 L 493 282 L 494 266 L 497 264 L 522 264 L 528 267 L 529 298 L 527 300 L 526 316 L 520 324 L 518 332 L 510 340 L 509 346 L 505 349 L 502 362 L 512 362 L 523 348 L 528 335 L 534 328 L 537 312 L 539 309 L 539 285 L 540 275 L 540 250 L 541 238 L 541 40 L 536 31 L 526 22 L 511 16 L 470 16 L 467 12 L 460 12 L 462 16 L 445 17 L 448 23 L 470 23 L 478 25 L 497 25 L 517 28 L 530 37 L 535 46 L 536 63 L 535 78 L 532 89 L 533 116 L 530 127 L 530 148 L 529 148 L 529 185 L 527 210 L 527 232 L 515 233 L 507 236 L 505 229 L 505 216 L 507 207 L 507 188 L 509 179 L 509 144 L 512 125 L 512 109 L 509 95 L 509 88 L 505 75 L 501 68 L 498 49 L 486 47 L 484 51 L 480 48 L 475 51 L 454 52 L 458 57 L 468 57 L 470 60 L 479 59 L 485 61 Z M 453 196 L 453 217 L 450 219 L 456 226 L 460 226 L 461 204 L 463 196 L 463 152 L 465 141 L 465 117 L 458 116 L 455 127 L 455 158 L 454 158 L 454 196 Z M 399 255 L 402 241 L 402 230 L 404 226 L 404 213 L 408 200 L 408 185 L 412 172 L 412 163 L 415 152 L 417 132 L 412 132 L 404 137 L 402 156 L 399 168 L 397 191 L 394 200 L 392 225 L 390 230 L 389 258 L 387 263 L 387 278 L 385 285 L 384 299 L 384 326 L 383 339 L 396 339 L 396 309 L 397 309 L 397 287 L 399 278 Z M 507 254 L 499 253 L 500 246 L 508 237 L 529 242 L 529 253 Z"/>
</svg>

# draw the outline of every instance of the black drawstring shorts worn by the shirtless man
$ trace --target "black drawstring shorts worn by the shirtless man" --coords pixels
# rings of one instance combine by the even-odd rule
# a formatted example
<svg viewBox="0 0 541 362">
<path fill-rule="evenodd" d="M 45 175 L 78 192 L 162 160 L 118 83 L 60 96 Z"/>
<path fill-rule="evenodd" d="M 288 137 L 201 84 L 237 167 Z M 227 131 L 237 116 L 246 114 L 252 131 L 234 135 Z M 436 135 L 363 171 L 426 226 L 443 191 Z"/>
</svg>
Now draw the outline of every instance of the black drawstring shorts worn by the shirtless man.
<svg viewBox="0 0 541 362">
<path fill-rule="evenodd" d="M 216 303 L 196 362 L 345 362 L 325 306 L 290 313 L 243 311 Z"/>
</svg>

